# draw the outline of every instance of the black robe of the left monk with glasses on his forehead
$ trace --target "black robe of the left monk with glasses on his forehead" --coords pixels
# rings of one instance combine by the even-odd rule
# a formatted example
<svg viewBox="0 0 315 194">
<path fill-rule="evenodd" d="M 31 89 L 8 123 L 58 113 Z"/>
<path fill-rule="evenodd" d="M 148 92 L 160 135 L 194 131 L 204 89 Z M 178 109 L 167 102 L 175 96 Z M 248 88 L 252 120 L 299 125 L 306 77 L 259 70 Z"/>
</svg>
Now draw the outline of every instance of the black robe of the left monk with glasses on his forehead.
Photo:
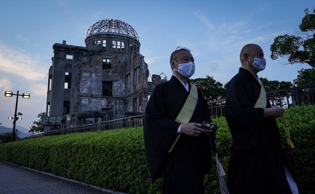
<svg viewBox="0 0 315 194">
<path fill-rule="evenodd" d="M 190 85 L 189 85 L 190 90 Z M 175 119 L 189 92 L 172 76 L 170 81 L 155 87 L 146 106 L 144 145 L 152 182 L 163 176 L 165 194 L 203 193 L 204 174 L 211 168 L 211 148 L 208 136 L 181 135 L 168 153 L 180 125 Z M 198 102 L 190 122 L 211 120 L 207 103 L 198 90 Z"/>
</svg>

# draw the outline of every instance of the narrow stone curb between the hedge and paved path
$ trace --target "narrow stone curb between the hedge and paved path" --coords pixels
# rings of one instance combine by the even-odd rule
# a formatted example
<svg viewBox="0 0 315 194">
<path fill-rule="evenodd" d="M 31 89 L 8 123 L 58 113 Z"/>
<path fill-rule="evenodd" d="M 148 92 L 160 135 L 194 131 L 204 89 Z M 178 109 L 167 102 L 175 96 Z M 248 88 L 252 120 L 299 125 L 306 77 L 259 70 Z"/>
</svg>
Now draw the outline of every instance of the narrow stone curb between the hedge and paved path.
<svg viewBox="0 0 315 194">
<path fill-rule="evenodd" d="M 95 188 L 95 189 L 98 189 L 98 190 L 101 190 L 101 191 L 105 191 L 105 192 L 109 192 L 109 193 L 113 193 L 113 194 L 128 194 L 126 192 L 119 192 L 119 191 L 114 191 L 114 190 L 110 190 L 110 189 L 106 189 L 106 188 L 100 188 L 98 186 L 94 186 L 94 185 L 91 185 L 91 184 L 86 184 L 84 182 L 80 182 L 80 181 L 77 181 L 77 180 L 72 180 L 72 179 L 69 179 L 69 178 L 62 177 L 62 176 L 57 176 L 55 174 L 51 174 L 51 173 L 48 173 L 48 172 L 35 170 L 35 169 L 28 168 L 28 167 L 25 167 L 25 166 L 20 166 L 20 165 L 11 163 L 11 162 L 7 162 L 7 161 L 3 161 L 3 162 L 11 164 L 11 165 L 14 165 L 14 166 L 18 166 L 20 168 L 25 168 L 25 169 L 28 169 L 28 170 L 31 170 L 31 171 L 34 171 L 34 172 L 38 172 L 38 173 L 41 173 L 41 174 L 45 174 L 45 175 L 48 175 L 48 176 L 52 176 L 52 177 L 55 177 L 55 178 L 66 180 L 68 182 L 73 182 L 73 183 L 81 184 L 81 185 L 84 185 L 84 186 L 89 186 L 89 187 L 92 187 L 92 188 Z"/>
</svg>

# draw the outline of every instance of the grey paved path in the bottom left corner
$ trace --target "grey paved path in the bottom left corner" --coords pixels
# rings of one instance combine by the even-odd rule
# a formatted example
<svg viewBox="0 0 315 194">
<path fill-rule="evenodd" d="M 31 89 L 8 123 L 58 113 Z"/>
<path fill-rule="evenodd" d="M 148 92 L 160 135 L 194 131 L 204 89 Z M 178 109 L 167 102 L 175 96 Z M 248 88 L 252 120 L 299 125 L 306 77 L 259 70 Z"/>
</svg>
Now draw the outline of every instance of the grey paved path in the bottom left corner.
<svg viewBox="0 0 315 194">
<path fill-rule="evenodd" d="M 110 194 L 12 164 L 0 162 L 0 194 Z"/>
</svg>

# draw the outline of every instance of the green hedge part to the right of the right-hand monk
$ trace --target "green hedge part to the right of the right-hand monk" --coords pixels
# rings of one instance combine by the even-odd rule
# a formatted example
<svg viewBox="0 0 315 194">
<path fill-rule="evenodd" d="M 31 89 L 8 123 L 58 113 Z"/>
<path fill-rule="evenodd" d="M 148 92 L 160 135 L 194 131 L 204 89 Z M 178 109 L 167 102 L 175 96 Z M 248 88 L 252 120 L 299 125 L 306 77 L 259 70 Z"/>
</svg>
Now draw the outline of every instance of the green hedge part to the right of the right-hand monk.
<svg viewBox="0 0 315 194">
<path fill-rule="evenodd" d="M 285 110 L 277 119 L 283 147 L 289 161 L 292 176 L 301 194 L 315 192 L 315 105 L 295 106 Z M 283 130 L 287 123 L 295 149 L 289 149 Z"/>
</svg>

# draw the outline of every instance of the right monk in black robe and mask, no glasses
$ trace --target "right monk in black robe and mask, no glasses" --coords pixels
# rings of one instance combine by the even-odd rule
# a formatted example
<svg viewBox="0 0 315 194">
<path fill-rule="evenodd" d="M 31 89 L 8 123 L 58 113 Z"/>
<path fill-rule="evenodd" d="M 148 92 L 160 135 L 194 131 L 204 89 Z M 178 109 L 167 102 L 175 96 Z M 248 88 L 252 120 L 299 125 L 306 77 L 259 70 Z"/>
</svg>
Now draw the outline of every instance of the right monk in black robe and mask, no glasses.
<svg viewBox="0 0 315 194">
<path fill-rule="evenodd" d="M 264 52 L 256 44 L 240 53 L 242 67 L 230 81 L 226 97 L 226 120 L 232 134 L 228 168 L 230 194 L 295 194 L 297 186 L 284 159 L 272 107 L 257 73 L 266 67 Z"/>
</svg>

